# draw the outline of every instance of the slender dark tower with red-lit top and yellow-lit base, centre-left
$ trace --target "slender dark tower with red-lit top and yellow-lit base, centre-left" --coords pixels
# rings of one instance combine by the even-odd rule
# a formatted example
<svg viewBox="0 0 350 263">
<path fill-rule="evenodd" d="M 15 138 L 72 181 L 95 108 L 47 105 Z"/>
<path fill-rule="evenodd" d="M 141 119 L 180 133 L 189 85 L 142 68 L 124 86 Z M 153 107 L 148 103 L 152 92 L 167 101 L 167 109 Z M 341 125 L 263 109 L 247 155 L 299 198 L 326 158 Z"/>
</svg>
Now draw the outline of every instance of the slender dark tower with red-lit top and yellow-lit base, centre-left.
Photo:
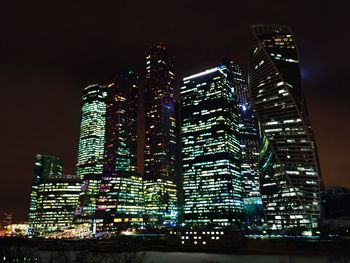
<svg viewBox="0 0 350 263">
<path fill-rule="evenodd" d="M 146 54 L 144 192 L 146 223 L 176 221 L 176 114 L 173 57 L 163 44 Z"/>
</svg>

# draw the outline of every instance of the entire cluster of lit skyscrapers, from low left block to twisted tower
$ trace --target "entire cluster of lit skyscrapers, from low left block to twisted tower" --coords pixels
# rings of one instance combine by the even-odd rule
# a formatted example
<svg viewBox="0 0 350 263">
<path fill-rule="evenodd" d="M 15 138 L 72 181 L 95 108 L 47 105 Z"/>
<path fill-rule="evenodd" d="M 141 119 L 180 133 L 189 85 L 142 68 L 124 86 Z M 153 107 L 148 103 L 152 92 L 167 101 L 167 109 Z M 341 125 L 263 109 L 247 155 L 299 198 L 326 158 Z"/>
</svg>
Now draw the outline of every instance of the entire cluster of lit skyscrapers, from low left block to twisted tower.
<svg viewBox="0 0 350 263">
<path fill-rule="evenodd" d="M 30 234 L 316 229 L 320 170 L 295 40 L 287 26 L 251 32 L 248 74 L 225 59 L 177 80 L 174 57 L 158 44 L 146 52 L 144 78 L 120 70 L 86 87 L 76 175 L 36 156 Z"/>
</svg>

